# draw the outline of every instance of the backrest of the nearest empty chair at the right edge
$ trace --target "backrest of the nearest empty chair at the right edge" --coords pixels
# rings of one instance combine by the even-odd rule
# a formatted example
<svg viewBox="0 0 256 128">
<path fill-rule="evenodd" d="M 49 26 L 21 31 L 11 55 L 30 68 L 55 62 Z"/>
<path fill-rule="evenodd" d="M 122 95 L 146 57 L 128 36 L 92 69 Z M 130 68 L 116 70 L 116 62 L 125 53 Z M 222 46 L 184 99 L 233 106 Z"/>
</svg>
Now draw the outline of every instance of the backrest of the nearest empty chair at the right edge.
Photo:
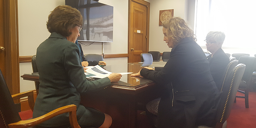
<svg viewBox="0 0 256 128">
<path fill-rule="evenodd" d="M 254 56 L 241 56 L 238 60 L 238 63 L 239 64 L 242 63 L 242 64 L 246 65 L 242 80 L 245 81 L 245 82 L 249 82 L 250 79 L 251 79 L 251 75 L 253 73 L 253 70 L 255 69 L 256 57 L 254 57 Z"/>
</svg>

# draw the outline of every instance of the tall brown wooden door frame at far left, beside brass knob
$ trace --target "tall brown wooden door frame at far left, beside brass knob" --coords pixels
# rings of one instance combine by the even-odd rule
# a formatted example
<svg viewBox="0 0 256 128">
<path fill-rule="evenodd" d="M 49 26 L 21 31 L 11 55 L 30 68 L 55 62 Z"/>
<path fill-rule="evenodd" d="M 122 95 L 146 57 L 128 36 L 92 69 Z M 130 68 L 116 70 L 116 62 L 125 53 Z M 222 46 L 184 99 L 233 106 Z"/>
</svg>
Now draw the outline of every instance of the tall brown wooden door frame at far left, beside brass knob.
<svg viewBox="0 0 256 128">
<path fill-rule="evenodd" d="M 11 94 L 20 93 L 17 0 L 3 0 L 5 81 Z"/>
</svg>

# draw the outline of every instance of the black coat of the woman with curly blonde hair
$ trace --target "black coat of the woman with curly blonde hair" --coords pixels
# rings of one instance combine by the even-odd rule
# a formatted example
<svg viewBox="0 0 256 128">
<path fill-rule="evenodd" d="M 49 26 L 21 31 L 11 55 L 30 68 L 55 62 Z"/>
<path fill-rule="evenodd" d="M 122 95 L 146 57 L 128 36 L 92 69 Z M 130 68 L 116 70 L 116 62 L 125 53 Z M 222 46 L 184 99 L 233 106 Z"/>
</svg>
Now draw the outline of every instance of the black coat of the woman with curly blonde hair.
<svg viewBox="0 0 256 128">
<path fill-rule="evenodd" d="M 140 73 L 162 88 L 158 106 L 159 128 L 216 124 L 215 96 L 218 89 L 210 74 L 209 62 L 195 41 L 183 38 L 172 49 L 162 70 L 142 69 Z"/>
</svg>

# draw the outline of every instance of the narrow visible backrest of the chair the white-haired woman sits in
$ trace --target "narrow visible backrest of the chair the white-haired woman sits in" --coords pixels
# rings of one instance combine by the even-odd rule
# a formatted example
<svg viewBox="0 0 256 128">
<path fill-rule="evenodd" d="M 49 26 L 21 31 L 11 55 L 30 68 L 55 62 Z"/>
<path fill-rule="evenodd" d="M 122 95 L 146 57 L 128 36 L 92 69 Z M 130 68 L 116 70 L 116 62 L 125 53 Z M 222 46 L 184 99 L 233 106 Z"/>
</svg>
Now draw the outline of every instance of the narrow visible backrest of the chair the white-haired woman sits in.
<svg viewBox="0 0 256 128">
<path fill-rule="evenodd" d="M 229 62 L 229 64 L 226 67 L 226 73 L 224 73 L 224 75 L 222 76 L 222 85 L 221 87 L 218 87 L 219 91 L 222 91 L 224 84 L 226 82 L 227 77 L 230 75 L 230 73 L 232 72 L 232 70 L 234 69 L 234 67 L 238 64 L 238 60 L 233 60 L 231 62 Z"/>
</svg>

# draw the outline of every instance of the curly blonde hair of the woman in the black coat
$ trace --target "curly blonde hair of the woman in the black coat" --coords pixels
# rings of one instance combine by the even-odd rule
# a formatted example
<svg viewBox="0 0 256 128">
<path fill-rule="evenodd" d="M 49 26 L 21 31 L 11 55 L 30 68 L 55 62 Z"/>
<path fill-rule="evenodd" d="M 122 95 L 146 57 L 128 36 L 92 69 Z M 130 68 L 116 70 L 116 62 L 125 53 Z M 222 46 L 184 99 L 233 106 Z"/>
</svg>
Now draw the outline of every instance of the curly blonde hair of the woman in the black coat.
<svg viewBox="0 0 256 128">
<path fill-rule="evenodd" d="M 175 45 L 184 37 L 197 41 L 194 31 L 190 29 L 189 24 L 180 17 L 171 18 L 163 22 L 162 26 L 167 29 L 167 35 L 169 39 L 174 41 Z"/>
</svg>

